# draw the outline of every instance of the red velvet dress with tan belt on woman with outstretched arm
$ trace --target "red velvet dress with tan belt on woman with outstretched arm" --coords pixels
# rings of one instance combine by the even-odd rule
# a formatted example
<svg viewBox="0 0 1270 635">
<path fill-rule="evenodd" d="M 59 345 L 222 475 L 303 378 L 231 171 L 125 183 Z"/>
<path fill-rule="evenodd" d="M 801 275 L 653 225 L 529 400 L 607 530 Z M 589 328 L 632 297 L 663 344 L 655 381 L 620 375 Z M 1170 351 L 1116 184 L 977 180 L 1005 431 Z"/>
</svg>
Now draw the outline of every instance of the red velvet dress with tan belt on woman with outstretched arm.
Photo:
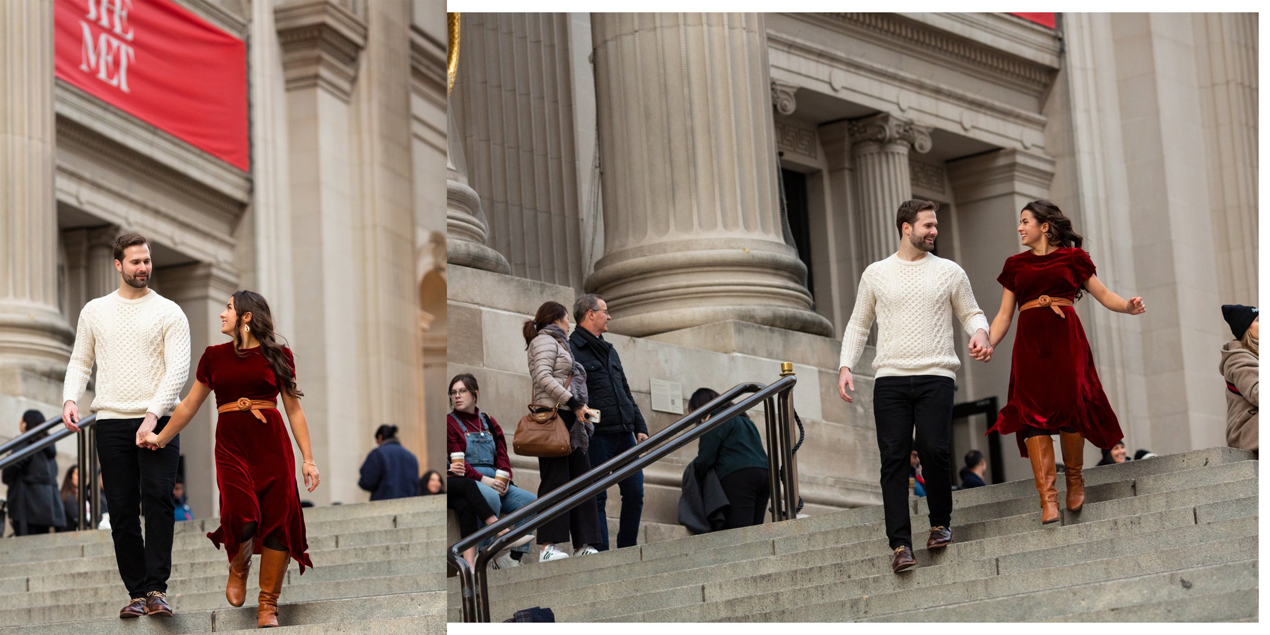
<svg viewBox="0 0 1270 635">
<path fill-rule="evenodd" d="M 1024 251 L 1007 258 L 997 282 L 1022 306 L 1040 296 L 1074 300 L 1093 274 L 1093 262 L 1083 249 L 1058 248 L 1046 255 Z M 1008 401 L 988 432 L 1010 434 L 1031 425 L 1057 434 L 1072 427 L 1090 443 L 1109 450 L 1124 437 L 1120 422 L 1102 392 L 1076 307 L 1059 310 L 1067 319 L 1048 307 L 1019 312 Z M 1016 434 L 1015 441 L 1026 457 L 1024 436 Z"/>
</svg>

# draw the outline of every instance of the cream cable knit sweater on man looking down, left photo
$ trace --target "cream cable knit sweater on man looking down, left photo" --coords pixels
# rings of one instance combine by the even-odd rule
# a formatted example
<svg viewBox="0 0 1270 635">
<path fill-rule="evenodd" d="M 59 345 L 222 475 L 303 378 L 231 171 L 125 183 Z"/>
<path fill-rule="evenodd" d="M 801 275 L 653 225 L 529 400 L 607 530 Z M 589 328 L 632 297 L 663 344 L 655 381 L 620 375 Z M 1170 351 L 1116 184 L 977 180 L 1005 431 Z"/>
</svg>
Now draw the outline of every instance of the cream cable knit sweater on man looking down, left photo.
<svg viewBox="0 0 1270 635">
<path fill-rule="evenodd" d="M 94 361 L 98 418 L 163 417 L 189 376 L 189 321 L 152 290 L 137 300 L 118 292 L 93 300 L 80 311 L 62 403 L 84 394 Z"/>
</svg>

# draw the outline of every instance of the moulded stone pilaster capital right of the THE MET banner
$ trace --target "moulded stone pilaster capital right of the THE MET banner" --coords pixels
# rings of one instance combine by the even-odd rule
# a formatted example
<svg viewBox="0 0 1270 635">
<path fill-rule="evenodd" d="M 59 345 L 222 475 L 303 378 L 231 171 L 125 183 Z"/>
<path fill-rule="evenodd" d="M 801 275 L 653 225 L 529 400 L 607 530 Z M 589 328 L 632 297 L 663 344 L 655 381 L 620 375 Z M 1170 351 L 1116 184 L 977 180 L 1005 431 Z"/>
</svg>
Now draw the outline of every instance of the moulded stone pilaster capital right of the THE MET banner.
<svg viewBox="0 0 1270 635">
<path fill-rule="evenodd" d="M 357 56 L 366 47 L 364 5 L 349 0 L 287 0 L 274 8 L 287 90 L 320 86 L 348 102 Z"/>
</svg>

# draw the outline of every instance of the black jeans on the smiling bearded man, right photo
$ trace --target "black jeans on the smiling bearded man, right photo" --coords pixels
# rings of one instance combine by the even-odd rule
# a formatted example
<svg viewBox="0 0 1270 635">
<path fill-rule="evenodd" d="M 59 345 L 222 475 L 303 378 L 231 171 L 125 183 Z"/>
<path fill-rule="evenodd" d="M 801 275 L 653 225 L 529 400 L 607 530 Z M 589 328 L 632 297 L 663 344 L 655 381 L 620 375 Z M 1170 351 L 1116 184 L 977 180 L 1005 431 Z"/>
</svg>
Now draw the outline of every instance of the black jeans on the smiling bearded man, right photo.
<svg viewBox="0 0 1270 635">
<path fill-rule="evenodd" d="M 952 387 L 950 377 L 918 375 L 878 377 L 874 382 L 874 422 L 881 455 L 881 502 L 886 514 L 890 547 L 912 547 L 908 519 L 908 467 L 917 429 L 917 457 L 926 479 L 926 503 L 931 527 L 952 519 L 952 479 L 949 447 L 952 436 Z"/>
</svg>

